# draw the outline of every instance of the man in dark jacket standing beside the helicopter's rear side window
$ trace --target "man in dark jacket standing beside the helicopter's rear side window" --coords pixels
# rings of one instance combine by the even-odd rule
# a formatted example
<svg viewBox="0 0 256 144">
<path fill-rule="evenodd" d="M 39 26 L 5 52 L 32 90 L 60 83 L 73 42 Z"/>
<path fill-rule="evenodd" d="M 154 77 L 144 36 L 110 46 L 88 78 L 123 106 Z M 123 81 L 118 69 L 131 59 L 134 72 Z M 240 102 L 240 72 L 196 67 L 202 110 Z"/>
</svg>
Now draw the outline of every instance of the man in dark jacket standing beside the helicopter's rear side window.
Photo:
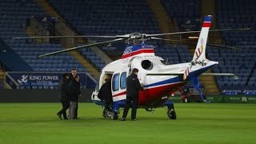
<svg viewBox="0 0 256 144">
<path fill-rule="evenodd" d="M 143 90 L 143 88 L 138 81 L 138 69 L 134 68 L 132 74 L 126 78 L 126 106 L 121 121 L 126 120 L 130 105 L 132 105 L 131 120 L 136 121 L 139 90 Z"/>
</svg>

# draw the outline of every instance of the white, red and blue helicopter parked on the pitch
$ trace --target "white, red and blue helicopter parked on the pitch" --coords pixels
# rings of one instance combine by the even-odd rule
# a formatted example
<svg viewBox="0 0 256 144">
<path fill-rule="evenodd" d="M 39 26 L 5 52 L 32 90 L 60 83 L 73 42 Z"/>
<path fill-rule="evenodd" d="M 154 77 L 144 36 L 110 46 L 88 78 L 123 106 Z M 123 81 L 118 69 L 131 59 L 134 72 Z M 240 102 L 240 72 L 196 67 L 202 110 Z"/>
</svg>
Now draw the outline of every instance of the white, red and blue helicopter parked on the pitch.
<svg viewBox="0 0 256 144">
<path fill-rule="evenodd" d="M 138 79 L 143 86 L 143 90 L 139 92 L 138 108 L 152 111 L 154 108 L 167 107 L 167 116 L 170 119 L 176 119 L 174 103 L 170 102 L 170 94 L 177 90 L 181 90 L 187 83 L 192 82 L 194 88 L 199 90 L 198 77 L 204 75 L 231 76 L 238 78 L 235 74 L 213 74 L 205 73 L 211 67 L 218 65 L 218 62 L 210 61 L 206 58 L 206 42 L 210 31 L 226 31 L 226 30 L 248 30 L 248 29 L 226 29 L 226 30 L 210 30 L 211 15 L 206 15 L 202 23 L 201 31 L 185 31 L 166 34 L 142 34 L 131 33 L 115 36 L 101 35 L 82 35 L 82 36 L 41 36 L 41 37 L 19 37 L 22 38 L 115 38 L 114 40 L 96 42 L 83 46 L 76 46 L 66 50 L 59 50 L 48 54 L 42 54 L 38 57 L 45 57 L 53 54 L 60 54 L 70 50 L 79 50 L 88 46 L 95 46 L 110 42 L 119 42 L 128 40 L 128 45 L 122 54 L 122 58 L 114 62 L 110 62 L 103 69 L 98 78 L 98 82 L 94 92 L 91 94 L 91 100 L 99 106 L 104 106 L 98 98 L 98 91 L 104 84 L 106 78 L 111 78 L 111 91 L 113 98 L 113 106 L 111 110 L 106 111 L 106 116 L 114 120 L 118 119 L 120 108 L 125 106 L 126 102 L 126 78 L 131 71 L 138 69 Z M 166 65 L 163 64 L 163 58 L 154 54 L 154 46 L 147 45 L 147 40 L 169 40 L 159 38 L 158 36 L 171 34 L 190 34 L 200 33 L 198 42 L 194 51 L 194 57 L 191 62 Z M 130 42 L 131 41 L 131 42 Z M 222 47 L 222 46 L 221 46 Z M 200 90 L 199 90 L 200 91 Z M 201 95 L 202 98 L 202 95 Z M 203 102 L 207 102 L 203 99 Z"/>
</svg>

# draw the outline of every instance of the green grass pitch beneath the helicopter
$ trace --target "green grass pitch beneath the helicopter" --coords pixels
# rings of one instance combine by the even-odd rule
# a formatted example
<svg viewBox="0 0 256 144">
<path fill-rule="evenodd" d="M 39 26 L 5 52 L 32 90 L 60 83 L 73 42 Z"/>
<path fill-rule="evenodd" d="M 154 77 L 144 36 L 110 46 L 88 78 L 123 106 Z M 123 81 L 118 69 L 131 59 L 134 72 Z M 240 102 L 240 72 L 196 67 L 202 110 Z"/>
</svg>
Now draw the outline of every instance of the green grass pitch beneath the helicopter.
<svg viewBox="0 0 256 144">
<path fill-rule="evenodd" d="M 177 103 L 166 110 L 138 110 L 138 121 L 102 118 L 102 108 L 79 104 L 78 120 L 64 121 L 59 103 L 0 103 L 0 143 L 255 143 L 256 105 Z"/>
</svg>

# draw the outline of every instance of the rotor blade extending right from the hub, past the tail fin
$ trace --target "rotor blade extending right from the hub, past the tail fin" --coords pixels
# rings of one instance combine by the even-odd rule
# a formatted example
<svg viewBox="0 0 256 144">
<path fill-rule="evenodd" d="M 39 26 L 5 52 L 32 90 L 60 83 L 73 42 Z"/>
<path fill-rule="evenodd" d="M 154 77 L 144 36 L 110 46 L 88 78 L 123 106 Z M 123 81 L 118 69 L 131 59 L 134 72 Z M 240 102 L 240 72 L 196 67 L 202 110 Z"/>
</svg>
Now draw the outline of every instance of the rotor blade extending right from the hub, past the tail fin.
<svg viewBox="0 0 256 144">
<path fill-rule="evenodd" d="M 250 28 L 242 28 L 242 29 L 219 29 L 219 30 L 209 30 L 210 32 L 214 31 L 231 31 L 231 30 L 250 30 Z M 190 33 L 200 33 L 200 31 L 184 31 L 184 32 L 174 32 L 174 33 L 164 33 L 164 34 L 146 34 L 146 37 L 155 37 L 162 35 L 173 35 L 173 34 L 190 34 Z"/>
</svg>

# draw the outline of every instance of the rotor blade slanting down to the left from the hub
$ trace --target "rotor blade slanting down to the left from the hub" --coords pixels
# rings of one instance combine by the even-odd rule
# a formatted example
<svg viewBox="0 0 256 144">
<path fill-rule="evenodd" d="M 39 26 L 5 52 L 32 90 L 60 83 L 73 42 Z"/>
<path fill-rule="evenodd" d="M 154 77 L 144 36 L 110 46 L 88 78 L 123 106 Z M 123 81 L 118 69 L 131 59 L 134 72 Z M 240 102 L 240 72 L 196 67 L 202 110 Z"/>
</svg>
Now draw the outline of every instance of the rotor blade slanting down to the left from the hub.
<svg viewBox="0 0 256 144">
<path fill-rule="evenodd" d="M 61 53 L 71 51 L 71 50 L 79 50 L 79 49 L 82 49 L 82 48 L 88 47 L 88 46 L 96 46 L 96 45 L 103 44 L 103 43 L 118 42 L 118 41 L 122 41 L 122 40 L 123 40 L 123 38 L 117 38 L 117 39 L 110 40 L 110 41 L 96 42 L 96 43 L 91 43 L 91 44 L 88 44 L 88 45 L 71 47 L 71 48 L 66 49 L 66 50 L 59 50 L 59 51 L 54 51 L 54 52 L 48 53 L 48 54 L 42 54 L 42 55 L 39 55 L 38 58 L 42 58 L 42 57 L 50 56 L 50 55 L 54 55 L 54 54 L 61 54 Z"/>
</svg>

